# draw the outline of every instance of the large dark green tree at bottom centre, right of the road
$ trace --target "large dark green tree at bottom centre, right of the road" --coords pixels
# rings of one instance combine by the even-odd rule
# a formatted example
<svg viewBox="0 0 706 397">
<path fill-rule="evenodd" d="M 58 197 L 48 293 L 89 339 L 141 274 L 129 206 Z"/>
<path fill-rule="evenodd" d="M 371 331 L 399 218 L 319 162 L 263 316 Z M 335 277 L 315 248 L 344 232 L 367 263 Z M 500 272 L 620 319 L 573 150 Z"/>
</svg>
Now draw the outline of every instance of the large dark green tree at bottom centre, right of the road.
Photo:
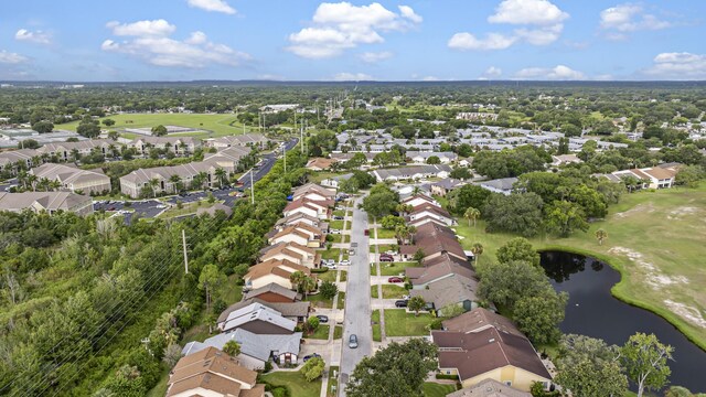
<svg viewBox="0 0 706 397">
<path fill-rule="evenodd" d="M 392 342 L 355 366 L 345 387 L 350 397 L 420 397 L 429 372 L 437 369 L 437 346 L 422 339 Z"/>
</svg>

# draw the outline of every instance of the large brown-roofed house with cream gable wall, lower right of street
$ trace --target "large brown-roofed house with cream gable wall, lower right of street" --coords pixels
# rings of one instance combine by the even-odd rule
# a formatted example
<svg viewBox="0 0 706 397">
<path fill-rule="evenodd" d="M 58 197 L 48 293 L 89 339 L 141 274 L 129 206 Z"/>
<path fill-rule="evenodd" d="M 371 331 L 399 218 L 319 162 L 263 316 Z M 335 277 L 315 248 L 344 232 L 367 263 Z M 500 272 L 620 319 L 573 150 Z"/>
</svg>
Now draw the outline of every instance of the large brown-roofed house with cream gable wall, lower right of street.
<svg viewBox="0 0 706 397">
<path fill-rule="evenodd" d="M 507 319 L 478 308 L 443 322 L 432 331 L 439 347 L 439 371 L 458 375 L 463 387 L 494 379 L 523 391 L 539 382 L 545 389 L 552 375 L 527 337 Z"/>
</svg>

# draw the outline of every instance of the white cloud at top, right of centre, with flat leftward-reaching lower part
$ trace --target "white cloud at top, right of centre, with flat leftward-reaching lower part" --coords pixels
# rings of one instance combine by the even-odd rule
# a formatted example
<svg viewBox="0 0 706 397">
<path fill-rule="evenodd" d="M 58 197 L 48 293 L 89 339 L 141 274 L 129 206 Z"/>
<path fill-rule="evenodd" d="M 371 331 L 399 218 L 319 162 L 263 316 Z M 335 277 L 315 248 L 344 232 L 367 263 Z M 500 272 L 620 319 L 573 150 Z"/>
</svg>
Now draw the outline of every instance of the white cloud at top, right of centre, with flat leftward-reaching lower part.
<svg viewBox="0 0 706 397">
<path fill-rule="evenodd" d="M 505 50 L 521 42 L 547 45 L 559 39 L 563 21 L 567 18 L 568 13 L 548 0 L 504 0 L 495 8 L 495 13 L 488 17 L 488 22 L 525 28 L 515 29 L 512 33 L 486 33 L 484 39 L 469 32 L 456 33 L 448 45 L 456 50 Z"/>
</svg>

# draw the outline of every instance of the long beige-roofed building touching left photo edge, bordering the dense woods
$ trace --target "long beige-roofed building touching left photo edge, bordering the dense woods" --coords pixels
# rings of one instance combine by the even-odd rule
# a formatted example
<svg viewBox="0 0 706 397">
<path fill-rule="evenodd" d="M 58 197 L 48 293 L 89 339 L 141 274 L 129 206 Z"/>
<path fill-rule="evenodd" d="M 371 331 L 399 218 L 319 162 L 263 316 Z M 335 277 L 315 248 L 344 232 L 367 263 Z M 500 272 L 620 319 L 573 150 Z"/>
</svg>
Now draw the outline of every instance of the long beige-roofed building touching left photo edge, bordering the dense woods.
<svg viewBox="0 0 706 397">
<path fill-rule="evenodd" d="M 0 192 L 0 211 L 21 213 L 25 210 L 50 215 L 58 211 L 73 212 L 83 216 L 93 214 L 93 198 L 71 192 Z"/>
</svg>

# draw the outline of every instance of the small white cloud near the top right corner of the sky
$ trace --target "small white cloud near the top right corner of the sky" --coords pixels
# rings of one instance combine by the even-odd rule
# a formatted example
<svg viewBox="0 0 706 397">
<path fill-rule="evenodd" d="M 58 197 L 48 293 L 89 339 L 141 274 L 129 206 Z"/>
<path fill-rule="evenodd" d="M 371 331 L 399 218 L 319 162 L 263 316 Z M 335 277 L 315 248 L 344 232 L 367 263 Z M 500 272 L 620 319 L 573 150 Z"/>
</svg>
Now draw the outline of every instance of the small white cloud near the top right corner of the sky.
<svg viewBox="0 0 706 397">
<path fill-rule="evenodd" d="M 625 39 L 624 33 L 640 30 L 662 30 L 672 26 L 672 23 L 646 13 L 640 4 L 623 3 L 601 11 L 600 26 L 608 31 L 606 33 L 608 39 L 623 40 Z"/>
</svg>

